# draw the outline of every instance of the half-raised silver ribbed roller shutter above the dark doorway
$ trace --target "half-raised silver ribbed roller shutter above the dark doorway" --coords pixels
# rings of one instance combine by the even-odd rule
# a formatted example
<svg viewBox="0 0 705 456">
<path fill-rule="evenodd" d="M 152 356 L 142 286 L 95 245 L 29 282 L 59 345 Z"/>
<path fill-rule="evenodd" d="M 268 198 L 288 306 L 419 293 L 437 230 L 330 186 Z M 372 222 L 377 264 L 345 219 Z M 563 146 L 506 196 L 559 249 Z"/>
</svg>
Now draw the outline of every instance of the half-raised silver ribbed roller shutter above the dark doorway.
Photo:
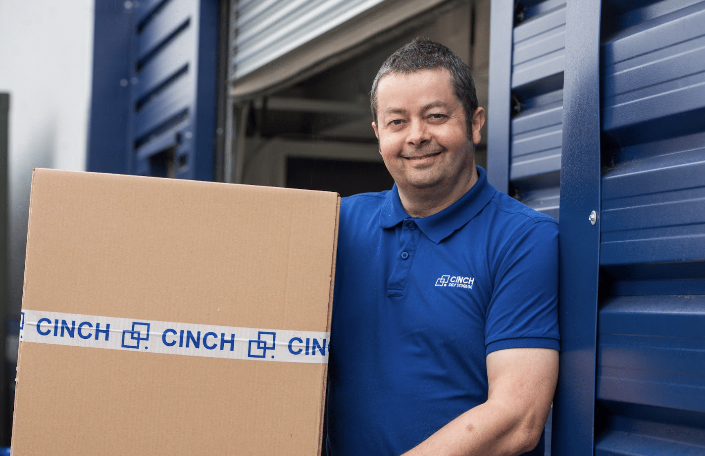
<svg viewBox="0 0 705 456">
<path fill-rule="evenodd" d="M 290 85 L 403 34 L 447 0 L 231 0 L 230 95 Z"/>
</svg>

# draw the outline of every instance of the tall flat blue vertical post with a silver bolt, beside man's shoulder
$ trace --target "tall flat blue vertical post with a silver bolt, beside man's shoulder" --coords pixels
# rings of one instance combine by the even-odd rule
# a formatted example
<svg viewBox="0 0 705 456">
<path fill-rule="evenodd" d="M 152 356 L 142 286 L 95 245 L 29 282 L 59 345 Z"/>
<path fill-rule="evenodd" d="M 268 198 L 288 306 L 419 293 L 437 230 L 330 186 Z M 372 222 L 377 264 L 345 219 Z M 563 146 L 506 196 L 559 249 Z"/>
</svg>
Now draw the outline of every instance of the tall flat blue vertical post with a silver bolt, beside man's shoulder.
<svg viewBox="0 0 705 456">
<path fill-rule="evenodd" d="M 560 176 L 561 354 L 553 402 L 553 456 L 594 454 L 600 11 L 600 1 L 569 1 L 566 10 Z"/>
</svg>

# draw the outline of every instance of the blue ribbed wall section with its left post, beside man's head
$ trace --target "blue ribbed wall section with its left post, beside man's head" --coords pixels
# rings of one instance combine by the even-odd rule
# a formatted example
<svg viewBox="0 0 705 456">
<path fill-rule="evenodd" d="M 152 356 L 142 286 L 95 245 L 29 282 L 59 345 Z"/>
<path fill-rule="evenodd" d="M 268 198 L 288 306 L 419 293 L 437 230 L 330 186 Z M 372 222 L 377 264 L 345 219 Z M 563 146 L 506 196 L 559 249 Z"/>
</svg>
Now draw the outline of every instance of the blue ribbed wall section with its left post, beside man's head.
<svg viewBox="0 0 705 456">
<path fill-rule="evenodd" d="M 490 78 L 488 149 L 494 153 L 488 155 L 489 178 L 527 206 L 558 218 L 565 0 L 527 1 L 516 8 L 511 1 L 503 3 L 499 7 L 493 2 L 493 27 L 512 22 L 511 39 L 493 36 L 491 58 L 505 58 L 502 53 L 511 56 L 510 81 L 509 87 L 498 87 L 506 82 Z M 498 73 L 496 66 L 491 61 L 491 75 Z M 493 94 L 507 90 L 503 97 Z M 496 116 L 510 117 L 508 132 L 494 130 Z M 508 160 L 499 156 L 504 153 Z M 506 183 L 511 183 L 511 189 Z"/>
</svg>

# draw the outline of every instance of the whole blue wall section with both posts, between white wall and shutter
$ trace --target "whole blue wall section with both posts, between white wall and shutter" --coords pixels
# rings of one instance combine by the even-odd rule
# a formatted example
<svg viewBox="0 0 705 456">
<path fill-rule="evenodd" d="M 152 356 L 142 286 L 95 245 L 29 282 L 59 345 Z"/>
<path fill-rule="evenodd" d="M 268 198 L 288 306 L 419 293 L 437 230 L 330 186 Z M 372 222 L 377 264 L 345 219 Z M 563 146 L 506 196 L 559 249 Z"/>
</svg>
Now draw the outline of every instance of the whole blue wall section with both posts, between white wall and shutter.
<svg viewBox="0 0 705 456">
<path fill-rule="evenodd" d="M 95 7 L 88 171 L 213 180 L 219 1 Z"/>
</svg>

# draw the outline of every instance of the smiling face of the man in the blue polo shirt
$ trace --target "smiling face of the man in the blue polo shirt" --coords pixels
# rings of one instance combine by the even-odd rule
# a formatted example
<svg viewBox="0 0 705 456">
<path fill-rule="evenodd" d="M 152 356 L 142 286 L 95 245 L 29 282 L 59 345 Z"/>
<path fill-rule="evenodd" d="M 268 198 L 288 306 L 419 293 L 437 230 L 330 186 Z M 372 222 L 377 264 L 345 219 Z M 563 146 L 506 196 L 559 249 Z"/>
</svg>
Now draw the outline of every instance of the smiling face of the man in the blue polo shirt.
<svg viewBox="0 0 705 456">
<path fill-rule="evenodd" d="M 465 111 L 453 94 L 448 70 L 388 74 L 379 80 L 372 128 L 400 192 L 430 189 L 462 195 L 469 190 L 474 144 L 483 123 L 484 111 L 478 108 L 472 134 L 467 134 Z"/>
</svg>

